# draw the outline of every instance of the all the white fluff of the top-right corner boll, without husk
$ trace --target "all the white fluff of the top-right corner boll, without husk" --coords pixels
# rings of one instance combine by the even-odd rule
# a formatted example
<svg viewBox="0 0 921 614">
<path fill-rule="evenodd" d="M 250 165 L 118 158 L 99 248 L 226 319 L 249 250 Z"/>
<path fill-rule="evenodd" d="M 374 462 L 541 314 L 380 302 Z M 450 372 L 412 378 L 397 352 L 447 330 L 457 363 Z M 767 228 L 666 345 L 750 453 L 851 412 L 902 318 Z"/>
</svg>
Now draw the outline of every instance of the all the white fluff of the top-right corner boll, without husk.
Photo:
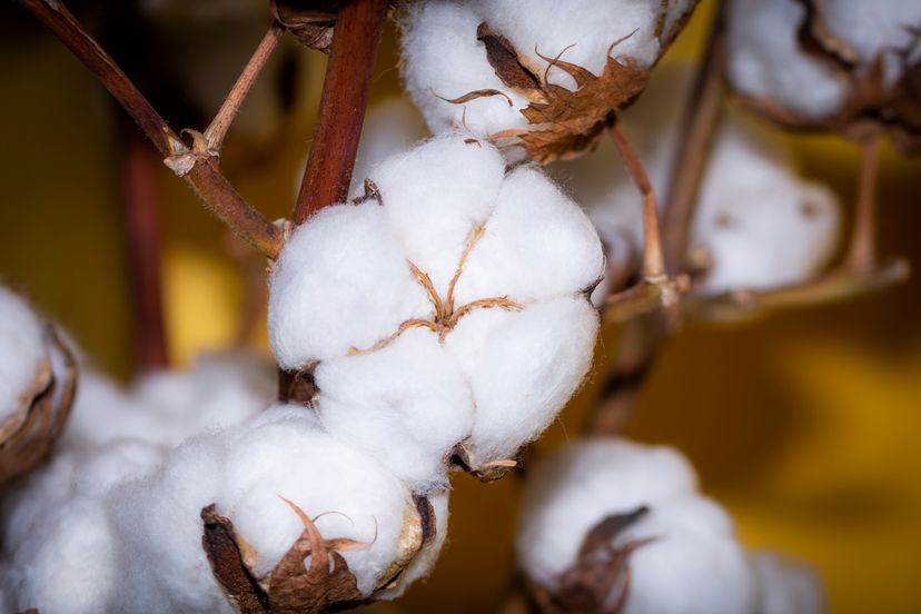
<svg viewBox="0 0 921 614">
<path fill-rule="evenodd" d="M 889 88 L 919 59 L 912 33 L 921 27 L 918 2 L 830 0 L 811 4 L 819 22 L 813 32 L 829 52 L 824 61 L 800 44 L 799 32 L 806 19 L 803 3 L 730 2 L 727 68 L 737 91 L 808 119 L 829 118 L 844 108 L 851 95 L 851 77 L 841 68 L 844 62 L 860 77 L 880 58 L 882 86 Z"/>
</svg>

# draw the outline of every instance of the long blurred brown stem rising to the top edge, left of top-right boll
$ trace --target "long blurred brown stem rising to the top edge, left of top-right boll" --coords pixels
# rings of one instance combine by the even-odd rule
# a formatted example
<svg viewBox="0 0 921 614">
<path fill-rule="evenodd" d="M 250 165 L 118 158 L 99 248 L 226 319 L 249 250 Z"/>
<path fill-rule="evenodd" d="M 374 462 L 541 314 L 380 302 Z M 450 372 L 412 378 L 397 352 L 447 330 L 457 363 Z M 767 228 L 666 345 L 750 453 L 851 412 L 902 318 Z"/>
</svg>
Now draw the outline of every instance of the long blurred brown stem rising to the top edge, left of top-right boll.
<svg viewBox="0 0 921 614">
<path fill-rule="evenodd" d="M 703 62 L 694 79 L 690 103 L 685 106 L 675 165 L 665 195 L 662 238 L 665 266 L 671 274 L 679 273 L 684 265 L 697 194 L 720 126 L 726 61 L 724 12 L 721 3 L 711 26 Z"/>
</svg>

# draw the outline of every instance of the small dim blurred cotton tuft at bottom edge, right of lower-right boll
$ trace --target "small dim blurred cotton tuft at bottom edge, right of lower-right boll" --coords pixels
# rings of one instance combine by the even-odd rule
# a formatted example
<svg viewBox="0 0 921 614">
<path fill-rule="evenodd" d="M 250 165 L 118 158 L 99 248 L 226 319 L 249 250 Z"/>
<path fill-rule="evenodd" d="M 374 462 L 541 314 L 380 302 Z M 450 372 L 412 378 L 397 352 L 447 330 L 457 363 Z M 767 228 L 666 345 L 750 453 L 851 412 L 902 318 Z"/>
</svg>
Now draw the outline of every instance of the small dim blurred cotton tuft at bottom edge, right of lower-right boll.
<svg viewBox="0 0 921 614">
<path fill-rule="evenodd" d="M 815 571 L 799 561 L 769 551 L 749 554 L 762 614 L 820 614 L 825 611 L 822 582 Z"/>
</svg>

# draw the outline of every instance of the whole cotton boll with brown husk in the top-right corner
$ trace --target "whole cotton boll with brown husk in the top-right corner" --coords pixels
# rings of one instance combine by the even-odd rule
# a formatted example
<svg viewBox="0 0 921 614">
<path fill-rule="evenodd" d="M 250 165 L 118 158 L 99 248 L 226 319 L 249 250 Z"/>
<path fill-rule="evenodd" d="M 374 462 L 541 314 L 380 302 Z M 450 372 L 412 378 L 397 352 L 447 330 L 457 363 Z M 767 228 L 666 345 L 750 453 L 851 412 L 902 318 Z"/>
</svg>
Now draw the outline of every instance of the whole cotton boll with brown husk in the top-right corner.
<svg viewBox="0 0 921 614">
<path fill-rule="evenodd" d="M 921 6 L 911 0 L 733 0 L 729 81 L 793 129 L 862 139 L 885 130 L 921 149 Z"/>
</svg>

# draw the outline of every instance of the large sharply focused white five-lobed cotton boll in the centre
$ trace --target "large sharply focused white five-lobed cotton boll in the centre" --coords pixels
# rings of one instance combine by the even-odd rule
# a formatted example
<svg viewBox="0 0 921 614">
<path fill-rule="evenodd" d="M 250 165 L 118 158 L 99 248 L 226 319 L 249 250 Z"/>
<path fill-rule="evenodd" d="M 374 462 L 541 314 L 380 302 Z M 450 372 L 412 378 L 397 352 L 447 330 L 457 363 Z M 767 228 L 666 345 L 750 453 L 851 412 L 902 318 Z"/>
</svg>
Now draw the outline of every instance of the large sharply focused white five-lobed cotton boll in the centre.
<svg viewBox="0 0 921 614">
<path fill-rule="evenodd" d="M 315 369 L 330 432 L 438 485 L 456 445 L 474 467 L 505 460 L 572 396 L 597 330 L 584 294 L 601 244 L 543 175 L 506 175 L 494 147 L 462 136 L 369 180 L 375 198 L 294 231 L 271 274 L 269 336 L 284 367 Z"/>
</svg>

